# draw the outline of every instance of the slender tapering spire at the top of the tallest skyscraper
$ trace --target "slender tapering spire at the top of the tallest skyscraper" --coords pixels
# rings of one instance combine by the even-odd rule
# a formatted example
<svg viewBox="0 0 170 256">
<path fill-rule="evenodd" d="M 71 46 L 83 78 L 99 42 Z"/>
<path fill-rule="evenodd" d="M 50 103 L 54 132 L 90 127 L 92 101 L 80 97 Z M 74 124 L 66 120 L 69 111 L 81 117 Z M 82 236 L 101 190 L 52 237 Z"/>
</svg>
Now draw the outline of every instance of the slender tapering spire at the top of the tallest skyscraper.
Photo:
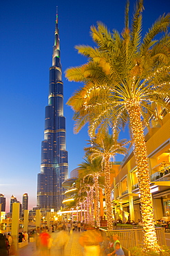
<svg viewBox="0 0 170 256">
<path fill-rule="evenodd" d="M 52 66 L 59 64 L 59 60 L 56 62 L 56 57 L 60 58 L 60 39 L 59 39 L 59 28 L 58 28 L 58 6 L 56 6 L 56 26 L 54 32 L 54 46 L 52 55 Z"/>
</svg>

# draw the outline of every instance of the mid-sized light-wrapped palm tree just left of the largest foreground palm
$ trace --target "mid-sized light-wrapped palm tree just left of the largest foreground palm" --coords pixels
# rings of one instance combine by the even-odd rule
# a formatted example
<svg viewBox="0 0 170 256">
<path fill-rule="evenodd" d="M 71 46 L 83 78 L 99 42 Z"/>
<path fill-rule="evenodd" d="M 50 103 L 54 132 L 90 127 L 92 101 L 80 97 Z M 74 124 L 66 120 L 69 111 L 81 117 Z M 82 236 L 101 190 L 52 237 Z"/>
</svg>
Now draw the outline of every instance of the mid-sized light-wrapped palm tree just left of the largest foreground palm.
<svg viewBox="0 0 170 256">
<path fill-rule="evenodd" d="M 111 208 L 111 189 L 110 189 L 110 174 L 113 167 L 114 156 L 116 154 L 127 153 L 125 148 L 126 140 L 118 141 L 118 135 L 105 134 L 105 136 L 98 136 L 92 140 L 92 147 L 86 147 L 85 152 L 89 154 L 92 160 L 102 157 L 102 165 L 105 173 L 105 203 L 107 212 L 107 228 L 113 228 L 112 223 L 112 208 Z M 111 161 L 112 160 L 112 161 Z"/>
</svg>

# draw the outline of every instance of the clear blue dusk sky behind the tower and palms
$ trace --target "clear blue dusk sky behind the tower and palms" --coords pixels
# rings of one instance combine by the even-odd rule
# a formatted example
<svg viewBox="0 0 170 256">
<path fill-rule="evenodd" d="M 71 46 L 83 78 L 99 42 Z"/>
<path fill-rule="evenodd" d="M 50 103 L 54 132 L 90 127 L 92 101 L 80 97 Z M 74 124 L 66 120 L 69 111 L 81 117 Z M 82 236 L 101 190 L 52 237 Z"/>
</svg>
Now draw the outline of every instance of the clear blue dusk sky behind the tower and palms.
<svg viewBox="0 0 170 256">
<path fill-rule="evenodd" d="M 6 196 L 7 212 L 10 196 L 19 201 L 25 192 L 29 208 L 36 205 L 37 174 L 40 172 L 41 140 L 43 140 L 45 106 L 47 105 L 49 68 L 56 6 L 59 6 L 59 35 L 63 67 L 64 102 L 81 84 L 68 82 L 65 70 L 86 62 L 74 46 L 94 46 L 89 28 L 102 21 L 109 30 L 124 27 L 126 0 L 8 0 L 0 9 L 0 104 L 1 152 L 0 193 Z M 130 17 L 135 0 L 130 0 Z M 143 32 L 164 12 L 170 10 L 169 0 L 145 0 Z M 64 104 L 66 147 L 69 172 L 83 161 L 83 147 L 89 139 L 87 126 L 73 133 L 72 109 Z M 127 138 L 128 132 L 120 138 Z M 123 157 L 116 156 L 116 161 Z"/>
</svg>

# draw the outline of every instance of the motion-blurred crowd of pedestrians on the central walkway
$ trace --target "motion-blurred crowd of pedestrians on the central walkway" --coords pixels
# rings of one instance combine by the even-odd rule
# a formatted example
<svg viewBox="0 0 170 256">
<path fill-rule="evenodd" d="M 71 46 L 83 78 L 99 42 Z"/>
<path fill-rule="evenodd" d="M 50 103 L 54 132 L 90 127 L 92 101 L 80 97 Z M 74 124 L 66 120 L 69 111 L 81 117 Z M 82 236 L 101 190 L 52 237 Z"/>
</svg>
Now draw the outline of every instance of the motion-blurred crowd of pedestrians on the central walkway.
<svg viewBox="0 0 170 256">
<path fill-rule="evenodd" d="M 118 235 L 107 237 L 98 228 L 76 221 L 58 223 L 50 228 L 47 226 L 36 228 L 32 235 L 34 235 L 36 249 L 40 251 L 40 256 L 49 256 L 53 246 L 56 255 L 63 255 L 71 231 L 81 232 L 78 242 L 83 246 L 84 256 L 125 256 Z M 50 232 L 56 232 L 55 236 L 51 236 Z"/>
</svg>

